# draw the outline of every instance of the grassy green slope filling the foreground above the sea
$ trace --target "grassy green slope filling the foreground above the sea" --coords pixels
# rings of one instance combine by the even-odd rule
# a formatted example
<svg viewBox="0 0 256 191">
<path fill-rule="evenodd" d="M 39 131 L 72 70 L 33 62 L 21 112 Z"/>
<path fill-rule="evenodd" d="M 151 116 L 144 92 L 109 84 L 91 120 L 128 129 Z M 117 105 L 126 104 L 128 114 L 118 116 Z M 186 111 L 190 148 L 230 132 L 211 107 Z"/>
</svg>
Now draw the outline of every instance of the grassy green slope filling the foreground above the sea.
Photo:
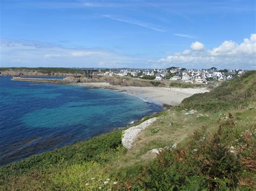
<svg viewBox="0 0 256 191">
<path fill-rule="evenodd" d="M 133 150 L 122 147 L 118 130 L 2 167 L 0 189 L 255 188 L 255 74 L 247 73 L 162 112 L 158 121 L 140 133 Z M 184 108 L 198 109 L 198 113 L 184 115 Z M 203 126 L 206 132 L 193 136 Z M 217 131 L 220 126 L 223 130 Z M 159 131 L 153 133 L 154 129 Z M 246 130 L 252 135 L 246 137 Z M 200 133 L 208 136 L 207 142 L 197 144 Z M 178 148 L 165 150 L 157 159 L 147 152 L 173 143 Z M 224 146 L 219 149 L 214 143 Z M 243 152 L 236 153 L 239 160 L 230 152 L 231 145 L 242 147 Z M 192 152 L 196 148 L 198 152 Z M 214 158 L 215 152 L 221 160 Z M 110 182 L 105 185 L 107 178 Z"/>
</svg>

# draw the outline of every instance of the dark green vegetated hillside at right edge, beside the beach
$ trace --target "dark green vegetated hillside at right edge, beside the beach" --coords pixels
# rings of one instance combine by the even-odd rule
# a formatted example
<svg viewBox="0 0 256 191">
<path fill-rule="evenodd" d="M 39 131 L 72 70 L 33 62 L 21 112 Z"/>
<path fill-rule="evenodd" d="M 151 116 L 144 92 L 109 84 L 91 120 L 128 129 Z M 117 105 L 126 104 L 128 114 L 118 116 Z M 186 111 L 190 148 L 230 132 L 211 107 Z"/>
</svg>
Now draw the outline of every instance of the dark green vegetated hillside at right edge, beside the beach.
<svg viewBox="0 0 256 191">
<path fill-rule="evenodd" d="M 219 111 L 238 108 L 256 100 L 256 71 L 252 70 L 234 80 L 223 82 L 210 93 L 194 94 L 180 104 L 183 109 Z"/>
</svg>

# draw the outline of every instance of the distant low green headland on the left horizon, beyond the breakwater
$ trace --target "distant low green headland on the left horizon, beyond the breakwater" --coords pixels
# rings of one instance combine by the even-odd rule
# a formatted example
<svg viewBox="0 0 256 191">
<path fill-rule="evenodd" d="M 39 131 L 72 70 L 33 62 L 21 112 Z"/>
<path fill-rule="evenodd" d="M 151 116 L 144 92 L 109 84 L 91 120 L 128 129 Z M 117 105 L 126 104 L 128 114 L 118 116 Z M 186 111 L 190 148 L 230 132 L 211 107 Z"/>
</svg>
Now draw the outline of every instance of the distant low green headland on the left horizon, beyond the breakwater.
<svg viewBox="0 0 256 191">
<path fill-rule="evenodd" d="M 41 72 L 41 73 L 78 73 L 78 74 L 82 74 L 83 73 L 83 70 L 81 69 L 76 69 L 76 68 L 44 68 L 44 67 L 38 67 L 38 68 L 26 68 L 26 67 L 11 67 L 11 68 L 0 68 L 0 71 L 4 72 L 6 70 L 9 70 L 9 69 L 12 69 L 12 70 L 28 70 L 28 71 L 31 71 L 31 70 L 35 70 L 37 72 Z"/>
</svg>

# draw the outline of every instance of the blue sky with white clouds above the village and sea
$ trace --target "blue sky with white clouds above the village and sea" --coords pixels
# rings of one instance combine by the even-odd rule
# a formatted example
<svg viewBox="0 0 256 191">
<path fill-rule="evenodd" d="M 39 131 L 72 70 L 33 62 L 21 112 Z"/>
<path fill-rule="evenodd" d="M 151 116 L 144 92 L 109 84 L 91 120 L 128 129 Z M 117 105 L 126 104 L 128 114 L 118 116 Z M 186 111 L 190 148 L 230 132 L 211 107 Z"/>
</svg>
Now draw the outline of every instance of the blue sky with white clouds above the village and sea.
<svg viewBox="0 0 256 191">
<path fill-rule="evenodd" d="M 0 67 L 256 69 L 255 0 L 0 0 Z"/>
</svg>

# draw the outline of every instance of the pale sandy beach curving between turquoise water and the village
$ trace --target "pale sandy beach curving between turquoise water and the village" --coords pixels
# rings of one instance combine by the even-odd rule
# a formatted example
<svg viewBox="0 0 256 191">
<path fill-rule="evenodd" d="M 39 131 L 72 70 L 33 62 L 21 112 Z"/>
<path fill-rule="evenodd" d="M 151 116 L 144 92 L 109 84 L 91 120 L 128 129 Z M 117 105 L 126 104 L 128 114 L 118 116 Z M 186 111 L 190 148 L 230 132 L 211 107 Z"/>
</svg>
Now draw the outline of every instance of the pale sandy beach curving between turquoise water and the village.
<svg viewBox="0 0 256 191">
<path fill-rule="evenodd" d="M 193 94 L 205 93 L 209 90 L 207 88 L 162 88 L 162 87 L 134 87 L 134 86 L 112 86 L 109 83 L 80 83 L 80 86 L 105 88 L 115 91 L 124 91 L 125 93 L 141 97 L 147 101 L 178 105 L 186 97 Z"/>
</svg>

